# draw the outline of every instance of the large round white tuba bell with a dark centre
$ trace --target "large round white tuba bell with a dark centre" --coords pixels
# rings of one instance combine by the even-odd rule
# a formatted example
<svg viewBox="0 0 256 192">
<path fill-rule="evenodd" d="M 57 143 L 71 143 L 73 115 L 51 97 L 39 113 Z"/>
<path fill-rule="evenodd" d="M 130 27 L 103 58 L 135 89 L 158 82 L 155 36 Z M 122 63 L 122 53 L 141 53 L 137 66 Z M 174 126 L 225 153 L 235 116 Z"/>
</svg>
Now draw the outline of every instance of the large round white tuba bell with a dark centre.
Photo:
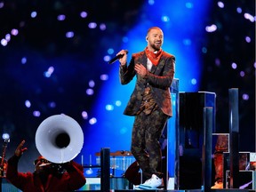
<svg viewBox="0 0 256 192">
<path fill-rule="evenodd" d="M 74 159 L 83 148 L 81 126 L 64 114 L 49 116 L 36 130 L 36 148 L 45 159 L 64 164 Z"/>
</svg>

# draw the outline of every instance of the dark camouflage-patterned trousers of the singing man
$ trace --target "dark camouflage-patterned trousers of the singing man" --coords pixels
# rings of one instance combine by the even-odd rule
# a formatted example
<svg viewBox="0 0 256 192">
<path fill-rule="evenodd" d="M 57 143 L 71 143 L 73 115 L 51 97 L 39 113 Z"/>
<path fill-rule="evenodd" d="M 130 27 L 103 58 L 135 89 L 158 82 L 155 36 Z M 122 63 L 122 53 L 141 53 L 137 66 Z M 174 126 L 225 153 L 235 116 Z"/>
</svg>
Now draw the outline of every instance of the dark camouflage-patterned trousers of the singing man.
<svg viewBox="0 0 256 192">
<path fill-rule="evenodd" d="M 135 116 L 132 128 L 132 155 L 142 170 L 143 180 L 152 174 L 163 178 L 162 151 L 159 139 L 164 131 L 168 116 L 160 108 L 146 115 L 143 111 Z"/>
</svg>

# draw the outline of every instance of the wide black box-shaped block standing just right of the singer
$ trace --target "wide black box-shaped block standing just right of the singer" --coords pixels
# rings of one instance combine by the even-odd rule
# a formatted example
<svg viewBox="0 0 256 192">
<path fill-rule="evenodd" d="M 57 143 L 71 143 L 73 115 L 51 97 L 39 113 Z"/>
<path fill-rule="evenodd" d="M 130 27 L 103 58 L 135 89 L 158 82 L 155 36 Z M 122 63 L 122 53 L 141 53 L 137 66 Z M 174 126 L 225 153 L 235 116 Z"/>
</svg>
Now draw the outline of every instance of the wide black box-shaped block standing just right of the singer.
<svg viewBox="0 0 256 192">
<path fill-rule="evenodd" d="M 204 108 L 213 109 L 212 129 L 215 132 L 215 100 L 214 92 L 180 92 L 180 189 L 196 189 L 202 186 Z"/>
</svg>

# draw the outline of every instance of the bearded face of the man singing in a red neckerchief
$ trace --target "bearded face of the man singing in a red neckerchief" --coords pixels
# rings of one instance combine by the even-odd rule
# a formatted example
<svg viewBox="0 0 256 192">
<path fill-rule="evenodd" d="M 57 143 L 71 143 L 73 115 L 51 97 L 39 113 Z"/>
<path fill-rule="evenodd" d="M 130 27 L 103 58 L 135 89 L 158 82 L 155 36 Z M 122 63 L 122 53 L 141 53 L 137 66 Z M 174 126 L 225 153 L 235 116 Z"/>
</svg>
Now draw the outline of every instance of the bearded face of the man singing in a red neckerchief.
<svg viewBox="0 0 256 192">
<path fill-rule="evenodd" d="M 148 32 L 148 48 L 158 51 L 164 43 L 164 34 L 160 28 L 153 28 Z"/>
</svg>

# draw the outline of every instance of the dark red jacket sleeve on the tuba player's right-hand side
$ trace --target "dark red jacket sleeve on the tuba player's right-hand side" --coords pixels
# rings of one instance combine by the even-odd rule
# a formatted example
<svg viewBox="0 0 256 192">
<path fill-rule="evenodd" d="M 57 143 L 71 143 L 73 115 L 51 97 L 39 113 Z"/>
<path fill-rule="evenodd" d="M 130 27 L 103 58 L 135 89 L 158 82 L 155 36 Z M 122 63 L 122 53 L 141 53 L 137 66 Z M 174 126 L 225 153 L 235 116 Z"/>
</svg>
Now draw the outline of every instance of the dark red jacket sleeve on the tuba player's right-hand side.
<svg viewBox="0 0 256 192">
<path fill-rule="evenodd" d="M 67 172 L 69 175 L 68 188 L 76 190 L 84 186 L 86 179 L 84 177 L 84 167 L 81 164 L 71 161 L 68 164 Z"/>
</svg>

